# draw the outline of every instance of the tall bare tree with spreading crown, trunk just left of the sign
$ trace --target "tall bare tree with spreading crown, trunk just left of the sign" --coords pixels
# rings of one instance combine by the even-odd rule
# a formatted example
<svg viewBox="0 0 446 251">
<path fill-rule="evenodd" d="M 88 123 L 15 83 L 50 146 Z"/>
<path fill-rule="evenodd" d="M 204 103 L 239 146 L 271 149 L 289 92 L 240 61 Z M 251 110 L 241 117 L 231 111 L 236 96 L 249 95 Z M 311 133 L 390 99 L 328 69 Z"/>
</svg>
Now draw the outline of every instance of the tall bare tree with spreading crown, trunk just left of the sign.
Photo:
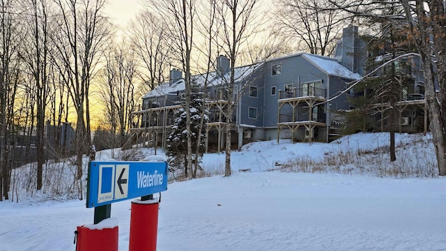
<svg viewBox="0 0 446 251">
<path fill-rule="evenodd" d="M 59 36 L 53 38 L 57 52 L 61 56 L 59 66 L 63 82 L 77 113 L 76 123 L 76 180 L 79 183 L 79 199 L 82 199 L 82 155 L 91 147 L 90 84 L 101 53 L 111 36 L 109 20 L 102 15 L 105 0 L 54 0 L 61 19 L 56 24 Z"/>
</svg>

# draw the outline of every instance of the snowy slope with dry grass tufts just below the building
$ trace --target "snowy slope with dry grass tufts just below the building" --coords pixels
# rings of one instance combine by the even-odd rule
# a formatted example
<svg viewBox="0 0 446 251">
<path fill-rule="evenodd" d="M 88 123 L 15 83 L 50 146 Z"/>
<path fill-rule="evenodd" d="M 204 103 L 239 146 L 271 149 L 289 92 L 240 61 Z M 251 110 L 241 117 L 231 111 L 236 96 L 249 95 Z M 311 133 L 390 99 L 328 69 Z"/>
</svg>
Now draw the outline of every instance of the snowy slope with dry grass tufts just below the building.
<svg viewBox="0 0 446 251">
<path fill-rule="evenodd" d="M 231 153 L 233 171 L 334 172 L 392 177 L 437 176 L 431 135 L 397 134 L 397 161 L 390 163 L 389 133 L 358 133 L 330 144 L 290 140 L 255 142 Z M 206 170 L 223 169 L 224 154 L 207 154 Z"/>
</svg>

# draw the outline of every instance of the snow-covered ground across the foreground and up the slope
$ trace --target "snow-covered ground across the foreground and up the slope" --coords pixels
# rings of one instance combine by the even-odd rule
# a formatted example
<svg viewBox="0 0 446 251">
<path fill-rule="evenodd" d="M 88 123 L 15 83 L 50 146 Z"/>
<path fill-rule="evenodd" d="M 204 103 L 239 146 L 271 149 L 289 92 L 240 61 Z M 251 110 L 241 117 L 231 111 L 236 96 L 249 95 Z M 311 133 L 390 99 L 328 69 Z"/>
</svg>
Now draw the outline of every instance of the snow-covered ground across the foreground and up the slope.
<svg viewBox="0 0 446 251">
<path fill-rule="evenodd" d="M 431 168 L 429 135 L 397 135 L 400 164 L 388 162 L 387 141 L 378 133 L 331 144 L 244 146 L 232 154 L 232 176 L 169 184 L 157 250 L 446 250 L 446 179 L 400 178 L 408 170 L 433 172 L 401 167 Z M 203 158 L 209 172 L 220 172 L 223 163 L 223 154 Z M 307 173 L 293 172 L 292 163 L 308 165 Z M 238 172 L 247 168 L 252 172 Z M 0 202 L 1 251 L 75 249 L 73 232 L 93 222 L 93 209 L 44 197 Z M 128 250 L 130 200 L 112 204 L 112 217 L 119 221 L 119 250 Z"/>
</svg>

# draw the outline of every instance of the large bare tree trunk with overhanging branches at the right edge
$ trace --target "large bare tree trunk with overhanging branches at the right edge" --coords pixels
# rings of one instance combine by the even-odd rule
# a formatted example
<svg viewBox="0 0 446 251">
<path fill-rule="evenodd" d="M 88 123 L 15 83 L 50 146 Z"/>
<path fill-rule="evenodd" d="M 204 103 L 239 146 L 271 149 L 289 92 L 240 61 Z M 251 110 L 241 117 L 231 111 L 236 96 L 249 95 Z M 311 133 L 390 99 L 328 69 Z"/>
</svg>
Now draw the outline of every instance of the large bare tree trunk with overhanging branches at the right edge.
<svg viewBox="0 0 446 251">
<path fill-rule="evenodd" d="M 408 40 L 420 54 L 430 128 L 436 149 L 438 172 L 446 175 L 446 10 L 444 1 L 347 1 L 329 0 L 335 8 L 369 20 L 406 20 Z M 390 15 L 386 10 L 393 8 Z M 434 70 L 436 69 L 436 70 Z M 438 80 L 438 89 L 436 88 Z"/>
</svg>

